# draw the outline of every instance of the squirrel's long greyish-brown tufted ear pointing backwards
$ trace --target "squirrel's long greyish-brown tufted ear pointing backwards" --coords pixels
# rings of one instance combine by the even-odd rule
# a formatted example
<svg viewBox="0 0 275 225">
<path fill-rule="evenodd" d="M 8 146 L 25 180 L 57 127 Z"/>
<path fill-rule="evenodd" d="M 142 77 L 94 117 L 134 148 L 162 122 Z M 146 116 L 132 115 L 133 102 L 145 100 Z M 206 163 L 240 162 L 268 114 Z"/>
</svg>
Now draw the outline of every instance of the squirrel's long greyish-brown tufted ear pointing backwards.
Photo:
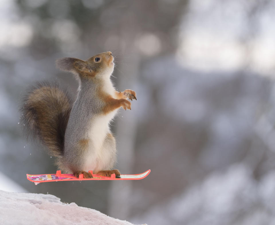
<svg viewBox="0 0 275 225">
<path fill-rule="evenodd" d="M 85 61 L 78 58 L 59 58 L 55 61 L 56 67 L 63 71 L 73 72 L 86 67 Z"/>
</svg>

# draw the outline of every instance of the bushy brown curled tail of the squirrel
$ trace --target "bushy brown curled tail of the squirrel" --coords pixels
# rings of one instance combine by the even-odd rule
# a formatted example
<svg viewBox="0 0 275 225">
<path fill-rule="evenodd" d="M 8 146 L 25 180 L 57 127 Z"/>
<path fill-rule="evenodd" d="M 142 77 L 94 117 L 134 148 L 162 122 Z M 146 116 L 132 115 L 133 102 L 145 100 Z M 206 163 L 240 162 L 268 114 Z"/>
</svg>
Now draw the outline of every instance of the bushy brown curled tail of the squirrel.
<svg viewBox="0 0 275 225">
<path fill-rule="evenodd" d="M 62 156 L 72 98 L 55 82 L 38 82 L 23 97 L 21 126 L 27 137 L 40 140 L 52 156 Z"/>
</svg>

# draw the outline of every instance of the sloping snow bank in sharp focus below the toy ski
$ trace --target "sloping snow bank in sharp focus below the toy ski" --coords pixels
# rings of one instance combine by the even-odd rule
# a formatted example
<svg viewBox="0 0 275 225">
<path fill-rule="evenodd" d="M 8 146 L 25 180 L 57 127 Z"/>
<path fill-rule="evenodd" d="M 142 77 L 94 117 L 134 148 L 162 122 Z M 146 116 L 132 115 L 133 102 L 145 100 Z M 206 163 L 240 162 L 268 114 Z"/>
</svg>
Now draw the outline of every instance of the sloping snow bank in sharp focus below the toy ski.
<svg viewBox="0 0 275 225">
<path fill-rule="evenodd" d="M 0 224 L 133 225 L 75 203 L 62 203 L 54 195 L 6 191 L 0 191 Z"/>
</svg>

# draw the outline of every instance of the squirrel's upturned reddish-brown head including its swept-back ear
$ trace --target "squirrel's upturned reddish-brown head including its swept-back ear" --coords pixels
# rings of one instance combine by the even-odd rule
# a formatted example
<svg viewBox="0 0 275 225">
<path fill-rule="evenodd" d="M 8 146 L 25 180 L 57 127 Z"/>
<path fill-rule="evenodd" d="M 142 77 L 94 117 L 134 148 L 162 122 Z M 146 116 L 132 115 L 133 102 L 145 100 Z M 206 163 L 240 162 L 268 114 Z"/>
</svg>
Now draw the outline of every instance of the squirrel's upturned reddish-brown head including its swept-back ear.
<svg viewBox="0 0 275 225">
<path fill-rule="evenodd" d="M 80 79 L 94 79 L 110 77 L 114 70 L 112 52 L 102 52 L 86 61 L 78 58 L 60 58 L 56 60 L 56 67 L 60 70 L 72 72 Z"/>
</svg>

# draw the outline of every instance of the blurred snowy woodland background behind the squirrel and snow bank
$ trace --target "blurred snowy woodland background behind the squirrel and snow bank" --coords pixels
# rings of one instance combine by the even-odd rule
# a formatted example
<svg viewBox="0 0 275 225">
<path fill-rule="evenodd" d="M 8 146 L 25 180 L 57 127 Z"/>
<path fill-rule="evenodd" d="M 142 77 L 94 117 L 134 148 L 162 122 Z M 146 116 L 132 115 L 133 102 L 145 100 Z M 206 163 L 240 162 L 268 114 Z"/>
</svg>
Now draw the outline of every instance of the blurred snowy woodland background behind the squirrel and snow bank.
<svg viewBox="0 0 275 225">
<path fill-rule="evenodd" d="M 275 1 L 2 0 L 0 18 L 0 189 L 135 224 L 274 224 Z M 43 79 L 76 94 L 54 61 L 105 51 L 117 89 L 137 92 L 111 123 L 116 168 L 151 174 L 35 186 L 26 173 L 56 168 L 22 137 L 20 96 Z"/>
</svg>

